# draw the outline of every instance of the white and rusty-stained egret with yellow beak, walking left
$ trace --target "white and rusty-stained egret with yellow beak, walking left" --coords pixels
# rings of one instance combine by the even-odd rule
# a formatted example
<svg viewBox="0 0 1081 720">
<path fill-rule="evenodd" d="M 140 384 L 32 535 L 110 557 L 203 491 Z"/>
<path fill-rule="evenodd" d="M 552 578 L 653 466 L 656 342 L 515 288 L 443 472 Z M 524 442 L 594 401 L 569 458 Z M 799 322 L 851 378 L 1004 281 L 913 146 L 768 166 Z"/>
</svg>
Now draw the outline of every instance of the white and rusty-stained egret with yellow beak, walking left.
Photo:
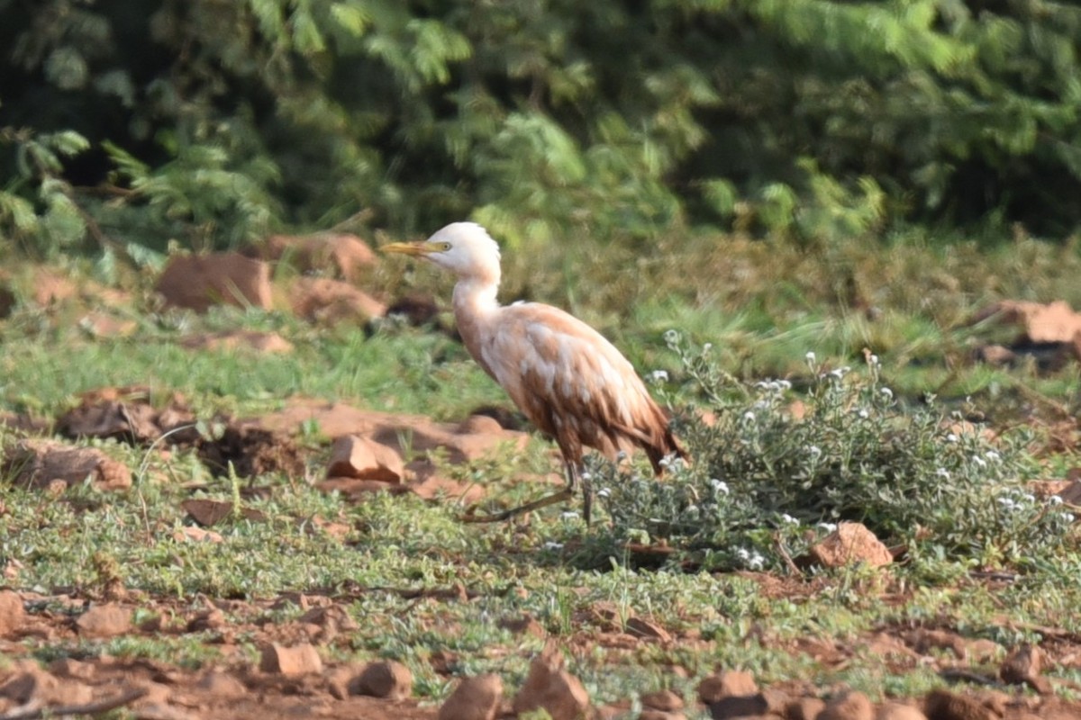
<svg viewBox="0 0 1081 720">
<path fill-rule="evenodd" d="M 426 241 L 390 243 L 381 249 L 423 258 L 454 273 L 454 318 L 466 350 L 530 422 L 555 439 L 562 456 L 563 490 L 473 521 L 504 520 L 569 500 L 580 485 L 588 525 L 592 491 L 583 468 L 586 448 L 613 462 L 641 448 L 658 476 L 666 459 L 689 459 L 665 411 L 604 336 L 552 305 L 499 304 L 499 245 L 483 227 L 452 222 Z"/>
</svg>

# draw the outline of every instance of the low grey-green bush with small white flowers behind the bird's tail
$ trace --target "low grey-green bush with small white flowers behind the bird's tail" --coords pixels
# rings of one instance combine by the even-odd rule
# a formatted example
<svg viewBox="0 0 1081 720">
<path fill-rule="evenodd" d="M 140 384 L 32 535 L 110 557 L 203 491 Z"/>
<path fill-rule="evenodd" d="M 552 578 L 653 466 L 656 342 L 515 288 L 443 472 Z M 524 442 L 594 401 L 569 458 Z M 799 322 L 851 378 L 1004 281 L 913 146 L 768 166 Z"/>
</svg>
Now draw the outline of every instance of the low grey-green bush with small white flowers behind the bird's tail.
<svg viewBox="0 0 1081 720">
<path fill-rule="evenodd" d="M 1031 561 L 1073 520 L 1024 487 L 1033 475 L 1026 438 L 991 443 L 959 413 L 946 422 L 930 397 L 903 407 L 881 384 L 875 356 L 866 372 L 826 371 L 809 353 L 814 381 L 798 418 L 791 383 L 740 383 L 709 348 L 675 332 L 669 343 L 716 422 L 694 413 L 681 422 L 694 462 L 671 463 L 664 483 L 598 466 L 595 485 L 617 536 L 663 539 L 704 553 L 709 566 L 753 568 L 779 565 L 778 543 L 802 552 L 850 520 L 913 553 L 998 566 Z"/>
</svg>

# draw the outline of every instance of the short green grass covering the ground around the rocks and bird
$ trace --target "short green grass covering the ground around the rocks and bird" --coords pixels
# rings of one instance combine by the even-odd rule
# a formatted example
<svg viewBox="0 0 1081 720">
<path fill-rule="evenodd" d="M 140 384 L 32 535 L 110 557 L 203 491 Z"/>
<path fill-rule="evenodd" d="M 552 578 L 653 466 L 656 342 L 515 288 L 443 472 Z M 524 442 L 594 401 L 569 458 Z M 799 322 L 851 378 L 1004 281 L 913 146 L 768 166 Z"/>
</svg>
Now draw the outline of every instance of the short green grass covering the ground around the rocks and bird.
<svg viewBox="0 0 1081 720">
<path fill-rule="evenodd" d="M 691 237 L 681 244 L 668 239 L 644 256 L 614 247 L 578 252 L 573 262 L 532 258 L 539 269 L 529 268 L 530 259 L 508 258 L 505 297 L 573 307 L 616 340 L 643 373 L 668 370 L 671 380 L 658 391 L 678 404 L 695 399 L 696 391 L 662 339 L 672 328 L 693 342 L 711 342 L 720 367 L 739 379 L 786 377 L 805 390 L 812 378 L 808 351 L 832 368 L 862 362 L 863 349 L 870 348 L 881 357 L 882 382 L 910 405 L 927 391 L 955 398 L 957 406 L 972 396 L 1003 424 L 1025 412 L 1051 412 L 1039 398 L 1076 412 L 1076 368 L 1040 373 L 973 364 L 971 350 L 983 329 L 961 324 L 998 298 L 1064 298 L 1081 307 L 1081 260 L 1071 247 L 1022 241 L 986 252 L 895 240 L 808 253 L 768 242 Z M 373 282 L 395 288 L 393 271 L 381 273 Z M 427 273 L 418 269 L 411 282 L 448 289 Z M 591 279 L 595 291 L 583 290 L 583 279 Z M 145 293 L 139 282 L 136 298 Z M 566 302 L 572 290 L 573 302 Z M 845 296 L 853 291 L 877 309 L 875 320 L 856 307 L 858 298 Z M 291 396 L 449 421 L 481 405 L 509 407 L 503 391 L 445 334 L 393 325 L 374 334 L 312 328 L 277 312 L 218 310 L 198 317 L 134 302 L 139 331 L 130 339 L 89 336 L 70 322 L 78 312 L 64 308 L 23 307 L 0 322 L 0 410 L 53 418 L 80 393 L 129 384 L 149 385 L 158 398 L 182 393 L 201 418 L 256 415 Z M 235 327 L 279 332 L 294 351 L 193 352 L 179 344 L 193 331 Z M 11 440 L 0 431 L 0 444 Z M 98 597 L 109 582 L 103 568 L 119 568 L 129 590 L 178 611 L 202 607 L 201 596 L 240 598 L 254 610 L 228 622 L 248 628 L 237 642 L 253 658 L 261 636 L 251 625 L 271 612 L 265 606 L 290 593 L 331 595 L 347 604 L 359 629 L 321 650 L 324 656 L 398 658 L 413 670 L 415 692 L 430 702 L 449 692 L 445 676 L 433 669 L 433 658 L 448 653 L 453 674 L 494 671 L 508 687 L 520 684 L 543 640 L 516 637 L 499 621 L 524 614 L 560 639 L 570 669 L 598 703 L 662 687 L 691 699 L 697 680 L 717 667 L 750 669 L 762 684 L 803 678 L 824 689 L 846 683 L 876 698 L 911 696 L 942 680 L 927 666 L 898 667 L 895 658 L 868 651 L 883 628 L 947 627 L 1003 648 L 1038 641 L 1033 628 L 1081 631 L 1075 612 L 1081 587 L 1064 581 L 1081 573 L 1076 544 L 1032 553 L 1013 582 L 993 587 L 972 574 L 982 569 L 979 559 L 936 555 L 933 547 L 884 572 L 849 569 L 793 579 L 783 570 L 770 576 L 675 565 L 658 570 L 628 553 L 609 532 L 606 517 L 586 528 L 565 508 L 553 508 L 529 526 L 463 525 L 454 503 L 384 494 L 350 503 L 280 475 L 258 478 L 270 492 L 245 500 L 267 520 L 227 519 L 214 528 L 222 543 L 182 542 L 174 533 L 188 522 L 181 506 L 192 495 L 186 484 L 199 486 L 202 495 L 230 500 L 235 483 L 212 477 L 190 450 L 166 458 L 157 449 L 97 445 L 142 468 L 131 491 L 104 494 L 88 485 L 53 498 L 0 486 L 0 558 L 19 566 L 12 584 L 45 595 Z M 509 504 L 544 491 L 515 478 L 553 470 L 547 448 L 538 441 L 522 457 L 504 451 L 446 470 L 483 483 L 490 495 Z M 1050 477 L 1076 464 L 1069 452 L 1044 459 Z M 312 516 L 345 524 L 349 532 L 331 536 L 313 527 Z M 782 590 L 771 589 L 771 578 Z M 440 595 L 457 585 L 469 600 Z M 614 615 L 603 620 L 599 609 Z M 278 624 L 298 614 L 272 612 Z M 633 614 L 655 619 L 680 640 L 671 647 L 619 646 L 613 634 L 625 630 Z M 854 660 L 830 664 L 795 650 L 809 638 L 853 649 Z M 109 642 L 57 640 L 38 644 L 34 654 L 43 661 L 112 654 L 195 667 L 219 661 L 209 642 L 200 634 L 144 634 Z M 1051 671 L 1077 680 L 1075 670 Z"/>
</svg>

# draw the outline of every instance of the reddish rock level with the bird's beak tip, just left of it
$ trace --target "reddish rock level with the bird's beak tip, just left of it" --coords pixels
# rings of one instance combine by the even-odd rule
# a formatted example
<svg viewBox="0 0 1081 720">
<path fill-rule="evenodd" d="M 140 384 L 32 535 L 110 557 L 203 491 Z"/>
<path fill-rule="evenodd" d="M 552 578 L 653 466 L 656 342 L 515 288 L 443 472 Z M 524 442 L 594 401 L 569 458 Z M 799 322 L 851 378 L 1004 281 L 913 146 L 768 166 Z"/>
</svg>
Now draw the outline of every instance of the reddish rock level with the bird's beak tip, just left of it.
<svg viewBox="0 0 1081 720">
<path fill-rule="evenodd" d="M 375 253 L 357 235 L 271 235 L 244 250 L 249 257 L 285 261 L 302 273 L 334 269 L 338 276 L 356 281 L 365 268 L 375 264 Z"/>
</svg>

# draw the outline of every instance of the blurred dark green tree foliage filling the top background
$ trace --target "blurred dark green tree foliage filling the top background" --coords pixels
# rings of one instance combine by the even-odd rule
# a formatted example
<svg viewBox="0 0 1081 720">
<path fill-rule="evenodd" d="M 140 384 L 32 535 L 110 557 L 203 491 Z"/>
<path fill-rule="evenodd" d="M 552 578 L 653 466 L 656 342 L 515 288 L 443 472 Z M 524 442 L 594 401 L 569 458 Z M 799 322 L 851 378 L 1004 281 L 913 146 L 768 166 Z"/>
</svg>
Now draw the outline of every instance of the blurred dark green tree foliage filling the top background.
<svg viewBox="0 0 1081 720">
<path fill-rule="evenodd" d="M 1043 0 L 0 0 L 0 237 L 818 245 L 1081 222 L 1081 10 Z"/>
</svg>

